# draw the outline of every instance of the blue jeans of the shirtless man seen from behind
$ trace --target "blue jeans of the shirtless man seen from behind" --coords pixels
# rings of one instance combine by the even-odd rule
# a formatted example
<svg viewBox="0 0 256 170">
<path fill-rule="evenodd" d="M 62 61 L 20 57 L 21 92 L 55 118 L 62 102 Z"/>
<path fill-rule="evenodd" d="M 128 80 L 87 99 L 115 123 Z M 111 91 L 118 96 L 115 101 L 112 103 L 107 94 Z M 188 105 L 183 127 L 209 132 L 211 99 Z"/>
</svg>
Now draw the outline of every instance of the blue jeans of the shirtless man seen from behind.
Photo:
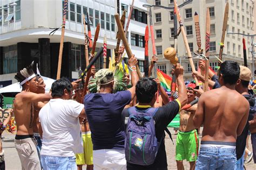
<svg viewBox="0 0 256 170">
<path fill-rule="evenodd" d="M 196 169 L 236 169 L 235 148 L 209 148 L 201 146 Z"/>
</svg>

